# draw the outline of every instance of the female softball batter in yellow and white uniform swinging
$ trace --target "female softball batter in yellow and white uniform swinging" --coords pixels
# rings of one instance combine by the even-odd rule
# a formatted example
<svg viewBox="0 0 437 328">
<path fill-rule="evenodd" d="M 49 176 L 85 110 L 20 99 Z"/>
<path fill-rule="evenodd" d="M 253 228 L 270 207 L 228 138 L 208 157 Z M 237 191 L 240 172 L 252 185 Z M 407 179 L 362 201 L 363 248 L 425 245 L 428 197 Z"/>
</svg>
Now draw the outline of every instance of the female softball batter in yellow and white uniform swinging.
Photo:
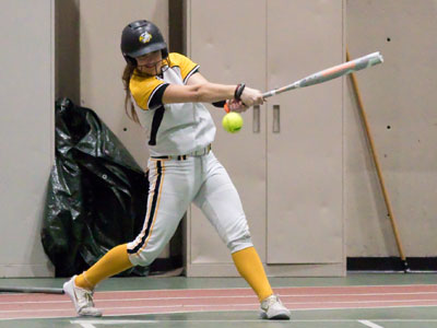
<svg viewBox="0 0 437 328">
<path fill-rule="evenodd" d="M 223 107 L 227 101 L 232 110 L 244 112 L 263 103 L 261 92 L 244 83 L 210 83 L 190 59 L 168 54 L 160 30 L 147 21 L 125 27 L 121 52 L 127 61 L 122 78 L 127 113 L 147 132 L 147 212 L 133 242 L 110 249 L 87 271 L 64 283 L 78 315 L 101 316 L 92 298 L 95 285 L 132 266 L 152 263 L 194 202 L 226 243 L 238 272 L 257 293 L 261 317 L 290 319 L 252 245 L 238 192 L 211 151 L 215 126 L 202 104 Z"/>
</svg>

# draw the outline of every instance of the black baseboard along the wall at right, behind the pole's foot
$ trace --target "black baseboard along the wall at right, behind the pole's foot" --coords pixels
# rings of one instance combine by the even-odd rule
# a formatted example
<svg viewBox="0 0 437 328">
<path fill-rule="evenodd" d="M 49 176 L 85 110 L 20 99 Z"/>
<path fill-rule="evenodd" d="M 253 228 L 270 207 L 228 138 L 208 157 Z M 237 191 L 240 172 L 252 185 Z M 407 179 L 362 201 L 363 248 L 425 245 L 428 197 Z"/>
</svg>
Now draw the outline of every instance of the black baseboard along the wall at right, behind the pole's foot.
<svg viewBox="0 0 437 328">
<path fill-rule="evenodd" d="M 405 262 L 400 257 L 349 257 L 347 271 L 437 271 L 437 257 L 408 257 Z"/>
</svg>

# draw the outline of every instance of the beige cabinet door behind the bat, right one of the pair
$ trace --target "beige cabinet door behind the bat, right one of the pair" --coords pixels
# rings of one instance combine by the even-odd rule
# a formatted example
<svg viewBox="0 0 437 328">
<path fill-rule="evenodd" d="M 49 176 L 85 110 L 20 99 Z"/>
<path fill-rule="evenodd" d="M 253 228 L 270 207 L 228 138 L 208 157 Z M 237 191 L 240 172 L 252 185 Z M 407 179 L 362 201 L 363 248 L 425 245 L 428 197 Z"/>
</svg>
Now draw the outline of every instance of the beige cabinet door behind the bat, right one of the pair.
<svg viewBox="0 0 437 328">
<path fill-rule="evenodd" d="M 344 61 L 343 21 L 342 0 L 269 0 L 268 89 Z M 269 99 L 268 263 L 344 260 L 342 110 L 342 79 Z"/>
</svg>

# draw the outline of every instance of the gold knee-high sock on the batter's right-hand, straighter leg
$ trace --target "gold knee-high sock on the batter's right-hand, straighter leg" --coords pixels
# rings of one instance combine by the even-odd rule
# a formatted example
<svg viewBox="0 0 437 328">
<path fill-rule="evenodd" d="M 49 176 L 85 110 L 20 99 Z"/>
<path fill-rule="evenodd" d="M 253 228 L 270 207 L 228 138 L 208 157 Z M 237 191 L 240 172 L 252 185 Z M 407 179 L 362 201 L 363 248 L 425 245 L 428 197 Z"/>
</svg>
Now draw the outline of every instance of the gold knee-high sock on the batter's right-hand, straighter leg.
<svg viewBox="0 0 437 328">
<path fill-rule="evenodd" d="M 260 301 L 273 294 L 255 247 L 238 250 L 232 257 L 239 274 L 249 283 Z"/>
</svg>

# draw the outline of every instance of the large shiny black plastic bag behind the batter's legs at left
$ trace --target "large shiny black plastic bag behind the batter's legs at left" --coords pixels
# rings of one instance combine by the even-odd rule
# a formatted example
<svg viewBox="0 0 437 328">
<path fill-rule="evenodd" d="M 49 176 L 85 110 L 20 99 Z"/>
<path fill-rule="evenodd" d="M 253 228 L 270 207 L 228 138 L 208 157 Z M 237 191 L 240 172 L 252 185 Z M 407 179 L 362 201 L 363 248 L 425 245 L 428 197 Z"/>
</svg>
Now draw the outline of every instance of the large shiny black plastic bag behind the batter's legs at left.
<svg viewBox="0 0 437 328">
<path fill-rule="evenodd" d="M 149 180 L 118 138 L 90 108 L 56 102 L 56 161 L 42 242 L 56 277 L 81 273 L 142 229 Z M 146 276 L 135 267 L 121 276 Z"/>
</svg>

